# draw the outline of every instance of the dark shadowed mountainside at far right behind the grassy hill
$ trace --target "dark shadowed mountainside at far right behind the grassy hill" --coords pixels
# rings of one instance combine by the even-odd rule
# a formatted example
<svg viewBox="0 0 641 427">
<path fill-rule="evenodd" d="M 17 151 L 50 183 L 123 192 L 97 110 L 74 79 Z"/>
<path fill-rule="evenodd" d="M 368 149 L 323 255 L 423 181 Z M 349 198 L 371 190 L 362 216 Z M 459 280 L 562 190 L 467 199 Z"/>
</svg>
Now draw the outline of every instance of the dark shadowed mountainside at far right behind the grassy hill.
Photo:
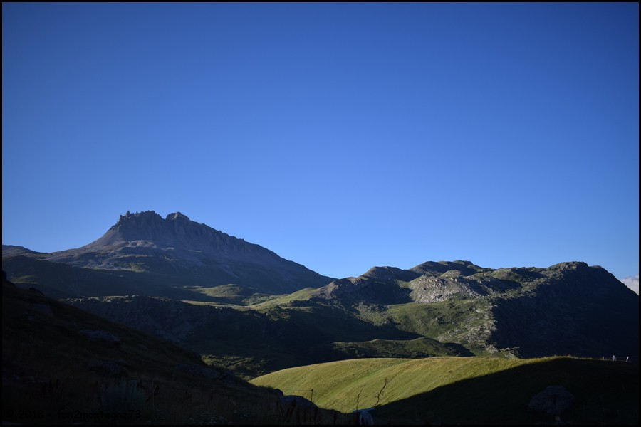
<svg viewBox="0 0 641 427">
<path fill-rule="evenodd" d="M 607 270 L 562 263 L 529 283 L 518 295 L 494 298 L 497 347 L 517 347 L 521 357 L 638 357 L 639 297 Z"/>
</svg>

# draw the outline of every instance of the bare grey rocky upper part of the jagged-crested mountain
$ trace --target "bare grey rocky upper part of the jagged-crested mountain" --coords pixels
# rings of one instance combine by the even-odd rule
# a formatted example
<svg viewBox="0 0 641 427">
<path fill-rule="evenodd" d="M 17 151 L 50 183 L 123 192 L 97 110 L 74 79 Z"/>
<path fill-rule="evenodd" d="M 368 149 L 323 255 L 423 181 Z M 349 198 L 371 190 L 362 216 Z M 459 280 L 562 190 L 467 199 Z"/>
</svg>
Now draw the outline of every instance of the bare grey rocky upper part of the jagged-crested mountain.
<svg viewBox="0 0 641 427">
<path fill-rule="evenodd" d="M 98 270 L 146 272 L 172 284 L 234 284 L 273 293 L 320 287 L 333 280 L 178 211 L 165 218 L 155 211 L 127 211 L 98 240 L 44 259 Z"/>
</svg>

